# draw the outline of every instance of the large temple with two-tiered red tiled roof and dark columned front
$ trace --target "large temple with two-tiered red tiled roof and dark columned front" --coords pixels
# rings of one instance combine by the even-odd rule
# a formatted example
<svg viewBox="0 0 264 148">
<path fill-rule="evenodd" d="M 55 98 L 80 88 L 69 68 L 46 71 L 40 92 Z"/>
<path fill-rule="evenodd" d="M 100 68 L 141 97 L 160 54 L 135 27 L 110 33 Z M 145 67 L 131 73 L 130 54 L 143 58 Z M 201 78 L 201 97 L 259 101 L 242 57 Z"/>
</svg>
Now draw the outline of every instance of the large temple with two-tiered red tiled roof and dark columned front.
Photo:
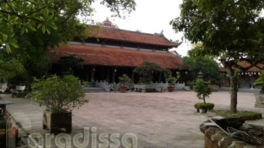
<svg viewBox="0 0 264 148">
<path fill-rule="evenodd" d="M 89 37 L 84 41 L 74 39 L 59 49 L 50 49 L 52 73 L 59 73 L 59 58 L 71 54 L 84 59 L 84 69 L 74 70 L 74 75 L 89 82 L 118 82 L 117 78 L 123 74 L 137 82 L 139 75 L 133 70 L 143 61 L 158 63 L 163 68 L 170 69 L 174 75 L 182 65 L 180 56 L 168 51 L 181 43 L 166 39 L 163 32 L 148 34 L 121 30 L 108 19 L 101 26 L 98 37 Z M 165 82 L 164 75 L 154 75 L 154 82 L 156 81 Z"/>
</svg>

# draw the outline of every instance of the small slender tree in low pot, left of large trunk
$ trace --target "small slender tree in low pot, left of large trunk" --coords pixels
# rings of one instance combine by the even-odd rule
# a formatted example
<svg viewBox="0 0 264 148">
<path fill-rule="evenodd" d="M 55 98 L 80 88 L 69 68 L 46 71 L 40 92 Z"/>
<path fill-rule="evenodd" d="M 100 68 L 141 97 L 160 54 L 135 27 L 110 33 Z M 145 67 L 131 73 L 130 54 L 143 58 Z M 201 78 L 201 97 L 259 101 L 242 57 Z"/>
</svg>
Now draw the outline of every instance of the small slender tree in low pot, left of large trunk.
<svg viewBox="0 0 264 148">
<path fill-rule="evenodd" d="M 202 99 L 203 103 L 195 104 L 195 109 L 197 112 L 202 109 L 202 113 L 206 113 L 207 110 L 212 110 L 214 108 L 214 104 L 209 104 L 205 102 L 205 98 L 212 94 L 212 87 L 210 87 L 210 81 L 204 81 L 200 78 L 197 78 L 195 81 L 195 85 L 193 86 L 193 90 L 197 92 L 197 98 Z"/>
</svg>

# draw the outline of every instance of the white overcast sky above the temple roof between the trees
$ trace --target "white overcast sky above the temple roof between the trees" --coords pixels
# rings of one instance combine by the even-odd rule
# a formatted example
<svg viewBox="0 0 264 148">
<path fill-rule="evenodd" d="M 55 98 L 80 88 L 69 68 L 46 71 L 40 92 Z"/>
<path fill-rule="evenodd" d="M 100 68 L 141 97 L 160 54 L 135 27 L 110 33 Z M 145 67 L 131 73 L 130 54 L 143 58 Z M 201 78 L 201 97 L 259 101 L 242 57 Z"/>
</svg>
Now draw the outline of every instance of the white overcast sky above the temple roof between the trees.
<svg viewBox="0 0 264 148">
<path fill-rule="evenodd" d="M 130 14 L 130 17 L 122 18 L 111 18 L 109 9 L 99 4 L 97 1 L 93 7 L 96 9 L 96 13 L 93 19 L 96 22 L 103 22 L 108 17 L 109 20 L 117 25 L 122 30 L 140 30 L 141 32 L 154 34 L 155 32 L 160 33 L 163 30 L 163 35 L 167 39 L 181 41 L 183 37 L 182 33 L 177 33 L 169 25 L 173 18 L 180 16 L 180 4 L 181 0 L 135 0 L 137 3 L 136 11 Z M 182 56 L 186 56 L 187 51 L 190 50 L 191 44 L 185 39 L 176 51 Z"/>
</svg>

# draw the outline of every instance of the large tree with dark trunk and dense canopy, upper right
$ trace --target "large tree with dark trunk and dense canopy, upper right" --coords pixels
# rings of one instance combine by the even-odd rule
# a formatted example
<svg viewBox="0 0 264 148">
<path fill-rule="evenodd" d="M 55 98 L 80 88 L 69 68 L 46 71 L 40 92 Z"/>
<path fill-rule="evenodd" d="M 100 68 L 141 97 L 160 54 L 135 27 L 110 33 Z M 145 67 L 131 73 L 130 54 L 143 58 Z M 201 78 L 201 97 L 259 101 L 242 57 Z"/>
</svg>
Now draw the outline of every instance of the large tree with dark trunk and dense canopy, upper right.
<svg viewBox="0 0 264 148">
<path fill-rule="evenodd" d="M 198 54 L 219 56 L 230 78 L 230 112 L 236 112 L 238 77 L 234 68 L 246 71 L 264 63 L 263 0 L 183 0 L 180 17 L 171 21 L 192 43 L 203 42 Z M 239 61 L 251 63 L 243 68 Z M 260 68 L 261 69 L 261 68 Z"/>
</svg>

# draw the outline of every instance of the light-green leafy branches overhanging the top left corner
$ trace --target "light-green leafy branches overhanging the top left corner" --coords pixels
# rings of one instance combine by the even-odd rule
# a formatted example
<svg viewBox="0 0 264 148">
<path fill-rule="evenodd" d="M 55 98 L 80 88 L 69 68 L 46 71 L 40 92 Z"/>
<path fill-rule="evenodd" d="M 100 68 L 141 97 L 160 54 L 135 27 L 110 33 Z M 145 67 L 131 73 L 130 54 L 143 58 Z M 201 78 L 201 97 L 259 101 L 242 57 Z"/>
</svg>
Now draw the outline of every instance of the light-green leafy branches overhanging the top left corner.
<svg viewBox="0 0 264 148">
<path fill-rule="evenodd" d="M 93 15 L 91 7 L 96 0 L 18 0 L 0 1 L 0 46 L 7 51 L 18 48 L 14 38 L 14 30 L 19 29 L 21 34 L 29 30 L 41 30 L 50 34 L 52 30 L 62 32 L 62 25 L 69 25 L 84 18 L 84 22 L 93 22 L 89 19 Z M 104 4 L 115 16 L 122 17 L 121 12 L 130 13 L 135 10 L 134 0 L 103 0 Z M 67 26 L 64 26 L 67 27 Z M 64 30 L 70 32 L 71 30 Z"/>
</svg>

